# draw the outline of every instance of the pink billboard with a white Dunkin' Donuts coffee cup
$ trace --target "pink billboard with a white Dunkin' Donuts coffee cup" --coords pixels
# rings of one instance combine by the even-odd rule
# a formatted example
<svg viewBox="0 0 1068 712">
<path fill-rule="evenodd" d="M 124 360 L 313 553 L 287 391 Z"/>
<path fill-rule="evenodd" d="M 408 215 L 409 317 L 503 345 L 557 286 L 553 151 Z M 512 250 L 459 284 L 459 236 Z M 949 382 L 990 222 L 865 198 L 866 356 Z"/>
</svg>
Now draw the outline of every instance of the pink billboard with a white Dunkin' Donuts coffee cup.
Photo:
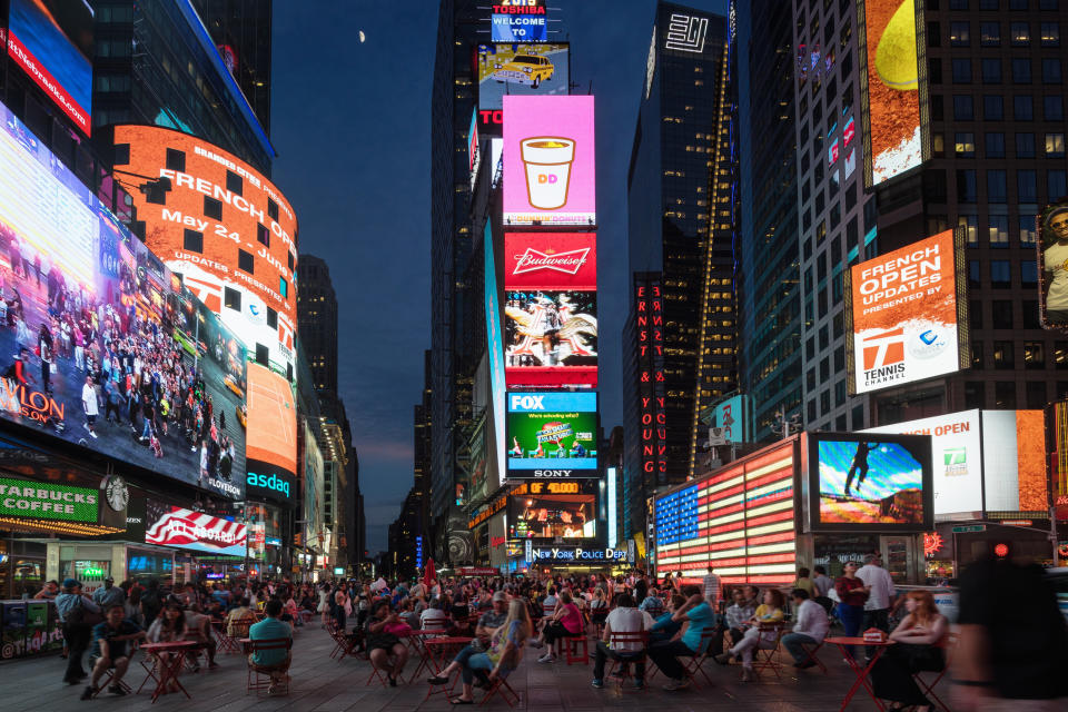
<svg viewBox="0 0 1068 712">
<path fill-rule="evenodd" d="M 596 225 L 593 97 L 503 100 L 505 227 Z"/>
</svg>

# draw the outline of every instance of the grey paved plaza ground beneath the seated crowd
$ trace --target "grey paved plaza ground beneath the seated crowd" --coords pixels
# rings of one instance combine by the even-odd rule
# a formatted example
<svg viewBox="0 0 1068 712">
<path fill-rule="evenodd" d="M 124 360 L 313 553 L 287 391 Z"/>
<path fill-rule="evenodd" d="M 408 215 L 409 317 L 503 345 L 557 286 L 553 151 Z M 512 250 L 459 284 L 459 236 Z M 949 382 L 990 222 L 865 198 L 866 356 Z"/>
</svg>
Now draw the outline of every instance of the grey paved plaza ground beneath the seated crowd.
<svg viewBox="0 0 1068 712">
<path fill-rule="evenodd" d="M 39 660 L 16 661 L 0 665 L 0 708 L 4 712 L 39 711 L 41 709 L 66 710 L 147 710 L 160 712 L 189 709 L 211 712 L 238 712 L 251 710 L 277 710 L 279 712 L 329 711 L 375 712 L 377 710 L 444 710 L 447 703 L 443 695 L 424 701 L 425 675 L 411 684 L 395 689 L 379 685 L 367 686 L 369 663 L 347 657 L 342 662 L 330 660 L 333 642 L 318 627 L 305 627 L 294 645 L 294 679 L 289 696 L 256 698 L 245 693 L 245 664 L 238 655 L 219 655 L 221 668 L 211 672 L 186 674 L 184 684 L 194 700 L 182 695 L 165 695 L 152 705 L 147 693 L 130 698 L 113 698 L 107 692 L 90 702 L 78 700 L 82 688 L 63 685 L 60 679 L 66 661 L 58 656 Z M 603 690 L 590 686 L 592 661 L 586 665 L 567 666 L 563 662 L 538 664 L 536 651 L 528 650 L 520 669 L 510 676 L 510 682 L 520 693 L 518 709 L 550 712 L 594 712 L 600 710 L 660 710 L 672 712 L 690 710 L 731 710 L 731 712 L 808 712 L 837 710 L 852 682 L 851 673 L 841 659 L 825 649 L 821 659 L 829 668 L 824 675 L 818 669 L 797 672 L 785 668 L 782 678 L 765 673 L 758 683 L 739 682 L 738 666 L 721 668 L 708 663 L 709 674 L 715 686 L 702 685 L 700 690 L 669 693 L 660 689 L 664 682 L 657 674 L 646 692 L 620 692 L 614 683 Z M 412 665 L 412 663 L 409 663 Z M 409 670 L 414 668 L 409 666 Z M 137 663 L 131 668 L 129 682 L 136 689 L 145 673 Z M 148 688 L 146 686 L 146 691 Z M 476 691 L 477 692 L 477 691 Z M 478 699 L 478 698 L 476 698 Z M 488 706 L 506 709 L 494 699 Z M 854 699 L 850 710 L 864 712 L 876 705 L 863 696 Z"/>
</svg>

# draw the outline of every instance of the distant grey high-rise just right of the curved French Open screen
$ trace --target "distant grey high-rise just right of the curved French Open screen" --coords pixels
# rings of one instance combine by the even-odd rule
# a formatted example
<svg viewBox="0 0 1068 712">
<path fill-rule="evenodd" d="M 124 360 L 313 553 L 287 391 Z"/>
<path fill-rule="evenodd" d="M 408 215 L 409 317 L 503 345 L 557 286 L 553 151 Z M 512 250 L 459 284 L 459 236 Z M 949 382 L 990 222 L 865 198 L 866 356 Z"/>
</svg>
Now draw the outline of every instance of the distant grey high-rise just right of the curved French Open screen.
<svg viewBox="0 0 1068 712">
<path fill-rule="evenodd" d="M 330 268 L 315 255 L 297 260 L 297 332 L 319 392 L 337 393 L 337 296 Z"/>
</svg>

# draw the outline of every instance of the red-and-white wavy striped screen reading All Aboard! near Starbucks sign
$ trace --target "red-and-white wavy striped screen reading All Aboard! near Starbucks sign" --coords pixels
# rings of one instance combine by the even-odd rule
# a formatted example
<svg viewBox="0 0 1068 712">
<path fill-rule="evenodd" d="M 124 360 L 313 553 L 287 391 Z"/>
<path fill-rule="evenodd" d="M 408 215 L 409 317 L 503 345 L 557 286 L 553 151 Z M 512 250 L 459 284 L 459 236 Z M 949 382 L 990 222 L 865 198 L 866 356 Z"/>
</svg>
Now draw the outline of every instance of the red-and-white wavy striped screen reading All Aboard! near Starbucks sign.
<svg viewBox="0 0 1068 712">
<path fill-rule="evenodd" d="M 145 541 L 209 554 L 244 556 L 248 534 L 244 524 L 159 502 L 147 503 Z"/>
</svg>

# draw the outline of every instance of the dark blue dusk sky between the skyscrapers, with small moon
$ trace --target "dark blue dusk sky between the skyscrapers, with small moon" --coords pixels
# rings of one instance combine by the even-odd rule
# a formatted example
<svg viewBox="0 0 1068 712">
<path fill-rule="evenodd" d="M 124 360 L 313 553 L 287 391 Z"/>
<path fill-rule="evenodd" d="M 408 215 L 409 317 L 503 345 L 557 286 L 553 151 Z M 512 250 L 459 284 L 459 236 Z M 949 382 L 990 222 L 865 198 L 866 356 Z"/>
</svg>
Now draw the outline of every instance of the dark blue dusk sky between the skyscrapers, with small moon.
<svg viewBox="0 0 1068 712">
<path fill-rule="evenodd" d="M 572 42 L 575 91 L 596 97 L 600 379 L 607 432 L 622 421 L 626 167 L 655 2 L 548 4 L 551 30 L 564 28 L 552 39 Z M 722 13 L 726 0 L 684 4 Z M 419 7 L 426 12 L 414 11 Z M 276 2 L 274 9 L 273 177 L 297 211 L 300 253 L 327 261 L 337 290 L 340 392 L 374 554 L 386 548 L 387 527 L 412 487 L 413 407 L 422 397 L 423 352 L 431 347 L 437 3 L 357 0 L 317 3 L 307 12 L 304 3 Z M 488 38 L 488 20 L 486 28 Z"/>
</svg>

